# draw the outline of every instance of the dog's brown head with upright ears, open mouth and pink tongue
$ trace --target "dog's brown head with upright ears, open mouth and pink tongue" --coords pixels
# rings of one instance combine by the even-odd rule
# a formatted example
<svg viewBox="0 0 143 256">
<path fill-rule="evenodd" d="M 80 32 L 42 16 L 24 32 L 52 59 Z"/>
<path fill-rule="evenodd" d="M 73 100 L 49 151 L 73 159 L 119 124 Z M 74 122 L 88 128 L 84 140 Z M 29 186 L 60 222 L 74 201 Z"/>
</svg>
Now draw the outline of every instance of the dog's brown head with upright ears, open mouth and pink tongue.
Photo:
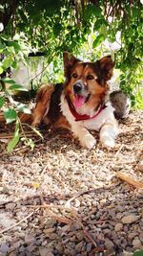
<svg viewBox="0 0 143 256">
<path fill-rule="evenodd" d="M 107 81 L 112 77 L 113 61 L 111 56 L 96 62 L 83 62 L 65 52 L 64 75 L 65 93 L 75 108 L 87 106 L 97 109 L 104 102 L 108 91 Z"/>
</svg>

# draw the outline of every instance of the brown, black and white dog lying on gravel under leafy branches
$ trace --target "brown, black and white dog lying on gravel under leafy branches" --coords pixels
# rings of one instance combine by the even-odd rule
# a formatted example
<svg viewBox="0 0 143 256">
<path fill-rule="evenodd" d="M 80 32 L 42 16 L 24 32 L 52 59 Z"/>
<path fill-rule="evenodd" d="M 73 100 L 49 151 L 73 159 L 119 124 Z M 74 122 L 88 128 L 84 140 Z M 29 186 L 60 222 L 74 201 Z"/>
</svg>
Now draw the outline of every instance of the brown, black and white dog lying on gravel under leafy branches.
<svg viewBox="0 0 143 256">
<path fill-rule="evenodd" d="M 55 128 L 70 128 L 83 147 L 92 149 L 96 140 L 89 130 L 99 131 L 103 146 L 114 147 L 118 127 L 108 100 L 107 81 L 114 63 L 110 56 L 83 62 L 65 52 L 63 84 L 47 84 L 37 93 L 32 126 L 42 121 Z"/>
</svg>

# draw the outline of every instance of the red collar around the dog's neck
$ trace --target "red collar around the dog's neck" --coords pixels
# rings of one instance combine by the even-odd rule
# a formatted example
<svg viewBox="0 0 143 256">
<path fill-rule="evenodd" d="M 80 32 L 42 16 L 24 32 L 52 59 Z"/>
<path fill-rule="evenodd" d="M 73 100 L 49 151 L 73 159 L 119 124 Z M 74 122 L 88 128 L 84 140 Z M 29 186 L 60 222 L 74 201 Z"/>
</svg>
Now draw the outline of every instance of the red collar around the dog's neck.
<svg viewBox="0 0 143 256">
<path fill-rule="evenodd" d="M 100 112 L 106 107 L 106 105 L 100 105 L 100 106 L 98 107 L 98 110 L 96 111 L 96 113 L 95 113 L 92 117 L 89 116 L 89 115 L 86 115 L 86 114 L 85 114 L 85 115 L 80 115 L 80 114 L 78 114 L 78 113 L 76 112 L 74 106 L 72 105 L 72 102 L 71 102 L 69 96 L 66 96 L 66 99 L 67 99 L 69 108 L 70 108 L 70 110 L 71 110 L 71 112 L 72 112 L 72 115 L 73 115 L 73 117 L 75 118 L 75 122 L 83 121 L 83 120 L 89 120 L 89 119 L 95 118 L 95 117 L 97 117 L 97 116 L 100 114 Z"/>
</svg>

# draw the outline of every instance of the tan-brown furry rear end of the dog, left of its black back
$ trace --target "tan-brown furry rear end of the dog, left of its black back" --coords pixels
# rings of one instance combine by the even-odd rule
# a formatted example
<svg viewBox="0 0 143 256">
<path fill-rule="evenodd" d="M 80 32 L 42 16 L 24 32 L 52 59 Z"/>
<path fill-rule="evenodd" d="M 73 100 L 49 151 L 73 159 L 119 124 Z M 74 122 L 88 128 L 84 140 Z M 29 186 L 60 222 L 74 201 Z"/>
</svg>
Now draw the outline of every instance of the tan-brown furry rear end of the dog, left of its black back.
<svg viewBox="0 0 143 256">
<path fill-rule="evenodd" d="M 54 85 L 52 83 L 44 84 L 39 89 L 36 96 L 36 105 L 32 112 L 32 127 L 40 125 L 41 121 L 48 114 L 53 90 Z"/>
</svg>

